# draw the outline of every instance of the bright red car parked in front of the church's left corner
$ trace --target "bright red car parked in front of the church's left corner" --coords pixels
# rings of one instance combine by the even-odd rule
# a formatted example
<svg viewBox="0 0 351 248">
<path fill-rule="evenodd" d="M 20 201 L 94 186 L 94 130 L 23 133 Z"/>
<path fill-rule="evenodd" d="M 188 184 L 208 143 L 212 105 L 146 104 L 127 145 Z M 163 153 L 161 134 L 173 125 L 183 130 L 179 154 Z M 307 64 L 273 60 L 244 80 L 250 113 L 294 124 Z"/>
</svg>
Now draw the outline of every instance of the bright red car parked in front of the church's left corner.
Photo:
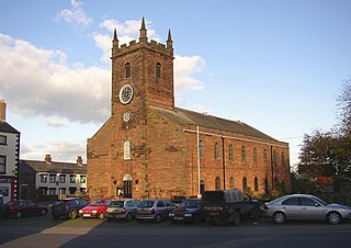
<svg viewBox="0 0 351 248">
<path fill-rule="evenodd" d="M 79 211 L 79 215 L 82 218 L 104 218 L 110 202 L 111 200 L 105 199 L 92 200 L 87 206 Z"/>
</svg>

